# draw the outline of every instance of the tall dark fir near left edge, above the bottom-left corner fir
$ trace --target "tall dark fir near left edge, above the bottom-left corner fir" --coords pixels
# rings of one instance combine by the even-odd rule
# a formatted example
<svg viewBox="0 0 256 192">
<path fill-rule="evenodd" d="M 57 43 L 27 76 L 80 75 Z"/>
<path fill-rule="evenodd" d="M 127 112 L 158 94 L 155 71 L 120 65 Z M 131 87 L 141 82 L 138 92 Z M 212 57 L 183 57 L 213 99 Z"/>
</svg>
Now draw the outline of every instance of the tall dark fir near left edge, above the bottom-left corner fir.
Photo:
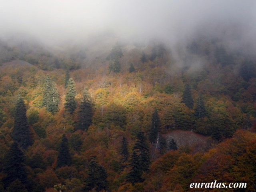
<svg viewBox="0 0 256 192">
<path fill-rule="evenodd" d="M 26 116 L 26 106 L 24 100 L 19 97 L 16 103 L 12 138 L 22 149 L 26 149 L 28 146 L 33 144 L 31 136 L 32 134 L 30 132 Z"/>
</svg>

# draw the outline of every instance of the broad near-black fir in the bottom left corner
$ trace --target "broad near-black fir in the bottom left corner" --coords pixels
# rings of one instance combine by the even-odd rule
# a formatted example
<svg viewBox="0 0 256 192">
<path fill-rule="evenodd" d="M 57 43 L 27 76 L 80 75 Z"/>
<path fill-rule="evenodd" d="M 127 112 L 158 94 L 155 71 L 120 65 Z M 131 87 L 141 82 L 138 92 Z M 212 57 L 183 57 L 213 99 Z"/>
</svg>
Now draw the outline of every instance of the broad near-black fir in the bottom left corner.
<svg viewBox="0 0 256 192">
<path fill-rule="evenodd" d="M 2 179 L 4 188 L 7 188 L 16 180 L 28 186 L 28 171 L 24 164 L 25 157 L 17 142 L 11 145 L 5 159 L 6 163 L 3 168 L 6 176 Z"/>
</svg>

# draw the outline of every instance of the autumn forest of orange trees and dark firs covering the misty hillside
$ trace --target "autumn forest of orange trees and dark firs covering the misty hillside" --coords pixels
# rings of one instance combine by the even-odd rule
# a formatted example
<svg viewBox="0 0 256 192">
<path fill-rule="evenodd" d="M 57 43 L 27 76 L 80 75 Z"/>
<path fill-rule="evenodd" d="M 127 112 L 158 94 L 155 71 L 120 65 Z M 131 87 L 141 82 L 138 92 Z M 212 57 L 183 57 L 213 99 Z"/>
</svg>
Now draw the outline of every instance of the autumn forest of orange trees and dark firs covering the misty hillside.
<svg viewBox="0 0 256 192">
<path fill-rule="evenodd" d="M 0 191 L 256 191 L 256 56 L 205 36 L 177 47 L 0 41 Z"/>
</svg>

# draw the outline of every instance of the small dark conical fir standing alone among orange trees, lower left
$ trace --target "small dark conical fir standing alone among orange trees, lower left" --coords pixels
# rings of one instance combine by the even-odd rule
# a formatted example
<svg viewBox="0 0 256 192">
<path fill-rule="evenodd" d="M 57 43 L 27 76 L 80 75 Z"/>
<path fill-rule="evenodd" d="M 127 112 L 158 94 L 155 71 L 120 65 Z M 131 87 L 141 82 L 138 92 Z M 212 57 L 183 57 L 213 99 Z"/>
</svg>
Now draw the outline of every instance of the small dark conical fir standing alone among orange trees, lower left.
<svg viewBox="0 0 256 192">
<path fill-rule="evenodd" d="M 61 145 L 57 158 L 57 164 L 58 167 L 70 166 L 71 164 L 71 156 L 68 148 L 68 139 L 66 138 L 65 134 L 62 135 Z"/>
</svg>

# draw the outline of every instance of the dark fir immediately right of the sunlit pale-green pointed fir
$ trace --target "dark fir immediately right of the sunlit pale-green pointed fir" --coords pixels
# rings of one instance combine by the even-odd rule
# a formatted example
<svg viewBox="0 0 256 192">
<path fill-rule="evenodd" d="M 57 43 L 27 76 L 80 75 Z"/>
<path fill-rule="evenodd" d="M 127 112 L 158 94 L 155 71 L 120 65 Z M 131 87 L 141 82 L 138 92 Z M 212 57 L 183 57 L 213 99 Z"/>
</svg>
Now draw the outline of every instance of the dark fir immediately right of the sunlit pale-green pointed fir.
<svg viewBox="0 0 256 192">
<path fill-rule="evenodd" d="M 82 100 L 80 102 L 78 111 L 78 122 L 76 129 L 88 130 L 88 127 L 92 124 L 92 102 L 88 88 L 84 88 Z"/>
</svg>

